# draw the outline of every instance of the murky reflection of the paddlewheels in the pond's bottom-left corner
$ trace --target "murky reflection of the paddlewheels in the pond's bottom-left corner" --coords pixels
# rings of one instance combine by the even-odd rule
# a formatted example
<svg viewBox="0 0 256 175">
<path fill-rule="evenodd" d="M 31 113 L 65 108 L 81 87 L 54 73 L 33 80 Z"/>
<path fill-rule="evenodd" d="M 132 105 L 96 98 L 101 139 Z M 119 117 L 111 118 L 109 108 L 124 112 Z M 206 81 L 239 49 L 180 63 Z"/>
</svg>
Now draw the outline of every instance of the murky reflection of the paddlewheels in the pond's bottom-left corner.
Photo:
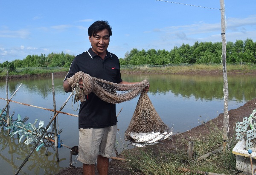
<svg viewBox="0 0 256 175">
<path fill-rule="evenodd" d="M 20 164 L 25 160 L 32 149 L 32 145 L 18 143 L 18 139 L 19 138 L 17 137 L 9 137 L 8 130 L 3 130 L 3 128 L 1 129 L 0 143 L 2 144 L 0 145 L 0 157 L 4 161 L 1 161 L 1 174 L 10 174 L 9 170 L 12 170 L 15 174 Z M 43 147 L 38 152 L 34 151 L 29 157 L 29 161 L 26 162 L 26 167 L 23 167 L 20 173 L 50 175 L 59 172 L 62 168 L 59 164 L 66 158 L 61 158 L 59 162 L 57 162 L 55 153 L 48 151 L 48 156 L 46 156 L 45 150 L 46 148 Z M 8 165 L 4 166 L 4 164 Z M 12 167 L 12 169 L 9 169 L 10 167 Z"/>
</svg>

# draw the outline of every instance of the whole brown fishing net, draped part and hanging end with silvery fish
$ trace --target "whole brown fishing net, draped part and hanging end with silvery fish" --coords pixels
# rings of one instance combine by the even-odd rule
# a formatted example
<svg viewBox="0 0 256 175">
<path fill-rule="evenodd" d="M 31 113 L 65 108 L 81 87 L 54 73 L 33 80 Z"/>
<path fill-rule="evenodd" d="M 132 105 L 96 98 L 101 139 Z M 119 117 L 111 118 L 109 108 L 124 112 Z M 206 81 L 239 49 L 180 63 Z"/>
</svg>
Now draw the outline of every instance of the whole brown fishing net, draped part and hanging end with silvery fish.
<svg viewBox="0 0 256 175">
<path fill-rule="evenodd" d="M 83 80 L 83 88 L 79 87 L 79 79 Z M 143 88 L 148 87 L 148 80 L 132 85 L 123 85 L 108 82 L 92 77 L 84 72 L 77 72 L 67 78 L 75 95 L 75 102 L 84 102 L 86 96 L 93 92 L 105 102 L 121 103 L 140 95 L 134 115 L 125 131 L 125 140 L 131 141 L 138 147 L 156 144 L 172 135 L 172 129 L 163 123 L 154 106 Z"/>
</svg>

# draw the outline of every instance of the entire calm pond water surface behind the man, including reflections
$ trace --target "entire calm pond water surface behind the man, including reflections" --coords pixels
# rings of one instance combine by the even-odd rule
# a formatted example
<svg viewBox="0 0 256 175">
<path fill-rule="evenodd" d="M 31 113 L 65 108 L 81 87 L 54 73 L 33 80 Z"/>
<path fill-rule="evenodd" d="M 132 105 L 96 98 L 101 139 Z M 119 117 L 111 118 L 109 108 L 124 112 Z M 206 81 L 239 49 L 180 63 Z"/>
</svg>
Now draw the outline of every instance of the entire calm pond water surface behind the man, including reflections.
<svg viewBox="0 0 256 175">
<path fill-rule="evenodd" d="M 169 127 L 173 127 L 175 133 L 185 132 L 192 127 L 200 125 L 204 121 L 214 119 L 224 112 L 223 99 L 223 77 L 209 75 L 122 75 L 122 79 L 128 82 L 140 82 L 148 79 L 150 90 L 148 96 L 155 110 Z M 63 78 L 54 78 L 54 90 L 56 110 L 69 97 L 62 87 Z M 30 104 L 38 107 L 53 109 L 52 78 L 18 79 L 8 81 L 9 98 L 21 85 L 13 101 Z M 242 106 L 245 102 L 256 98 L 256 79 L 250 75 L 228 75 L 229 99 L 228 110 Z M 6 98 L 6 80 L 0 81 L 0 97 Z M 129 142 L 124 141 L 124 133 L 127 129 L 139 97 L 128 102 L 116 104 L 118 115 L 118 135 L 116 148 L 118 152 L 129 149 Z M 6 101 L 0 99 L 0 109 L 6 106 Z M 65 113 L 78 115 L 77 104 L 71 103 L 71 99 L 61 110 Z M 47 126 L 53 117 L 53 112 L 35 107 L 10 102 L 9 113 L 14 113 L 13 119 L 18 114 L 21 119 L 25 116 L 29 119 L 25 122 L 35 123 L 38 127 L 39 120 L 44 121 Z M 78 145 L 79 130 L 78 117 L 59 114 L 57 118 L 58 130 L 63 129 L 60 138 L 68 147 Z M 25 138 L 19 143 L 16 135 L 9 136 L 8 130 L 2 128 L 0 132 L 0 164 L 1 174 L 15 174 L 17 169 L 29 155 L 32 144 L 26 145 Z M 49 175 L 57 173 L 61 168 L 69 167 L 70 150 L 66 147 L 58 149 L 59 162 L 56 161 L 55 151 L 50 147 L 48 156 L 45 155 L 46 147 L 38 152 L 34 151 L 21 169 L 21 175 Z M 74 166 L 79 167 L 81 163 L 73 155 Z"/>
</svg>

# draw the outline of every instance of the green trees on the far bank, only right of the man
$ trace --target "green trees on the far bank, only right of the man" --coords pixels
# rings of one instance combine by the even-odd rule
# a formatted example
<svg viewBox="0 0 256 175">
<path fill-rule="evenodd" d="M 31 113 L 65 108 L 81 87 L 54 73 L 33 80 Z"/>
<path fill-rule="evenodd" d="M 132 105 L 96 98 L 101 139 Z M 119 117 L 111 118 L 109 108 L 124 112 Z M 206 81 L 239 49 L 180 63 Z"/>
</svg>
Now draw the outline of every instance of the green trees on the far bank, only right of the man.
<svg viewBox="0 0 256 175">
<path fill-rule="evenodd" d="M 139 51 L 133 48 L 120 58 L 120 65 L 166 65 L 166 64 L 206 64 L 221 63 L 221 42 L 195 42 L 194 45 L 182 44 L 171 51 L 149 49 Z M 251 39 L 227 42 L 227 63 L 256 63 L 256 42 Z"/>
</svg>

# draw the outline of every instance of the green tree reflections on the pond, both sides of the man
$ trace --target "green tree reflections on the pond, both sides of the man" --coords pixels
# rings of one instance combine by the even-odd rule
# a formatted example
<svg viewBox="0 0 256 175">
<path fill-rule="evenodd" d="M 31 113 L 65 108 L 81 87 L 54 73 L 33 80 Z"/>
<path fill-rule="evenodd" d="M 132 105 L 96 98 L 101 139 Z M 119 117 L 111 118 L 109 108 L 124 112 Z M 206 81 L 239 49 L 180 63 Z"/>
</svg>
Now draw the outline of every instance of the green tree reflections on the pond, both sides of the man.
<svg viewBox="0 0 256 175">
<path fill-rule="evenodd" d="M 175 96 L 182 95 L 184 98 L 195 96 L 196 99 L 203 98 L 211 100 L 223 97 L 223 77 L 209 75 L 123 75 L 122 79 L 128 82 L 140 82 L 148 79 L 151 94 L 166 94 L 172 92 Z M 55 91 L 63 91 L 63 78 L 55 79 Z M 9 80 L 9 94 L 13 94 L 22 83 L 30 93 L 35 93 L 43 98 L 52 95 L 52 79 L 22 79 Z M 6 82 L 0 81 L 0 90 L 6 91 Z M 236 100 L 250 100 L 255 94 L 256 79 L 253 76 L 228 76 L 229 98 Z"/>
</svg>

